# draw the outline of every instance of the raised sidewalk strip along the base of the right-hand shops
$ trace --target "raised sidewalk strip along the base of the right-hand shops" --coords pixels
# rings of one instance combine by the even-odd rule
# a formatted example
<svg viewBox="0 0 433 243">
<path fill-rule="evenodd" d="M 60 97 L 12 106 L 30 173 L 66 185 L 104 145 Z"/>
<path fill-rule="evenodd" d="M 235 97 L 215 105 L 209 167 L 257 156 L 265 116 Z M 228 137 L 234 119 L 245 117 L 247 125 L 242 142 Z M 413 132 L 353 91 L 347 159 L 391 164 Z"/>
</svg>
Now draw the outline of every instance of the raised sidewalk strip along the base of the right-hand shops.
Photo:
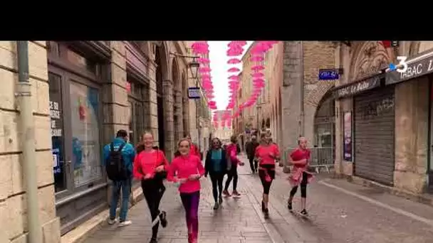
<svg viewBox="0 0 433 243">
<path fill-rule="evenodd" d="M 375 188 L 378 190 L 382 190 L 385 193 L 389 193 L 391 195 L 396 195 L 400 198 L 406 198 L 407 200 L 411 200 L 414 202 L 420 202 L 424 205 L 429 205 L 433 207 L 433 195 L 421 194 L 417 195 L 414 193 L 410 193 L 406 190 L 402 190 L 400 188 L 394 188 L 388 185 L 382 185 L 380 183 L 376 183 L 372 180 L 367 180 L 364 178 L 360 178 L 355 175 L 340 175 L 334 173 L 333 180 L 347 180 L 349 183 L 353 183 L 355 185 L 362 185 L 366 188 Z"/>
</svg>

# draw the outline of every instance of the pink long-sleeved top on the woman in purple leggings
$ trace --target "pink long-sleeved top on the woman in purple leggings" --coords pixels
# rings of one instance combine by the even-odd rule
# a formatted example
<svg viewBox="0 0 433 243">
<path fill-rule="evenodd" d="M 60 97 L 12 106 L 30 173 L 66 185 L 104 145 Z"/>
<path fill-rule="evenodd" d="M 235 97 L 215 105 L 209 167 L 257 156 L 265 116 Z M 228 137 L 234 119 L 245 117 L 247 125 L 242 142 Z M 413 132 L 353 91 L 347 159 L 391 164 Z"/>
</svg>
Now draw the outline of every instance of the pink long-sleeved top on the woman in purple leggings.
<svg viewBox="0 0 433 243">
<path fill-rule="evenodd" d="M 188 178 L 189 175 L 194 174 L 204 175 L 204 167 L 198 156 L 177 156 L 169 166 L 167 180 L 176 182 L 175 173 L 177 173 L 177 178 Z M 200 190 L 199 180 L 187 180 L 179 186 L 179 192 L 181 193 L 194 193 L 198 190 Z"/>
</svg>

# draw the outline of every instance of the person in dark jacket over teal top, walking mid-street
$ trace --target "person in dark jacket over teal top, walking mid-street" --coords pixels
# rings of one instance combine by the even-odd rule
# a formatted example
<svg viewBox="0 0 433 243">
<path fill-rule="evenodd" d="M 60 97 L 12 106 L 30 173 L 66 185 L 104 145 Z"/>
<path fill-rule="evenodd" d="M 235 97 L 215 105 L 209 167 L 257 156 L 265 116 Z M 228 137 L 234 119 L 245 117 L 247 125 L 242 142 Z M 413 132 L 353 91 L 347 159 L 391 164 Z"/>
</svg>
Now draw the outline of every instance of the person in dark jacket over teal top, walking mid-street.
<svg viewBox="0 0 433 243">
<path fill-rule="evenodd" d="M 218 138 L 212 139 L 212 148 L 207 151 L 204 163 L 204 177 L 209 174 L 212 181 L 212 194 L 214 195 L 214 210 L 217 210 L 222 203 L 222 183 L 227 168 L 226 151 L 221 148 L 221 141 Z"/>
</svg>

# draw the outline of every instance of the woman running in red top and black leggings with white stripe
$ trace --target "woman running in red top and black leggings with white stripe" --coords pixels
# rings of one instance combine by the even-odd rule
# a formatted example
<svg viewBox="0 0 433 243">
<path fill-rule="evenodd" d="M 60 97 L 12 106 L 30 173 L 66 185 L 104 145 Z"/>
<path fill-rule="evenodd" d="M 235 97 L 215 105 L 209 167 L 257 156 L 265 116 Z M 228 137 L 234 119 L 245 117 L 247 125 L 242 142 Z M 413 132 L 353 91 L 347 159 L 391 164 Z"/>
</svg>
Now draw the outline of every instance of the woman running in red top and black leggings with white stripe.
<svg viewBox="0 0 433 243">
<path fill-rule="evenodd" d="M 167 213 L 160 210 L 160 202 L 165 192 L 163 183 L 167 175 L 168 163 L 165 155 L 153 146 L 153 135 L 145 132 L 142 142 L 137 146 L 138 156 L 135 157 L 133 173 L 134 177 L 141 180 L 141 187 L 150 216 L 152 217 L 152 238 L 150 243 L 157 242 L 160 222 L 162 227 L 167 227 Z"/>
</svg>

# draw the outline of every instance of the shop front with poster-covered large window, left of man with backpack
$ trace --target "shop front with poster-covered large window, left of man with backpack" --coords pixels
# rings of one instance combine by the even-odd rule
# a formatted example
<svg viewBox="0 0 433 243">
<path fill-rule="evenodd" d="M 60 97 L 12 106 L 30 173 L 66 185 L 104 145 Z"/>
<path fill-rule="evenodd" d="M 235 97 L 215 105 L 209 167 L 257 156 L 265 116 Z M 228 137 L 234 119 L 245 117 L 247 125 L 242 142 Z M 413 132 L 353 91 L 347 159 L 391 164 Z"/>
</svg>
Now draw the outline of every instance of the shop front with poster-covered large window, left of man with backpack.
<svg viewBox="0 0 433 243">
<path fill-rule="evenodd" d="M 101 167 L 101 87 L 110 49 L 103 42 L 48 42 L 56 212 L 61 234 L 107 206 Z"/>
</svg>

